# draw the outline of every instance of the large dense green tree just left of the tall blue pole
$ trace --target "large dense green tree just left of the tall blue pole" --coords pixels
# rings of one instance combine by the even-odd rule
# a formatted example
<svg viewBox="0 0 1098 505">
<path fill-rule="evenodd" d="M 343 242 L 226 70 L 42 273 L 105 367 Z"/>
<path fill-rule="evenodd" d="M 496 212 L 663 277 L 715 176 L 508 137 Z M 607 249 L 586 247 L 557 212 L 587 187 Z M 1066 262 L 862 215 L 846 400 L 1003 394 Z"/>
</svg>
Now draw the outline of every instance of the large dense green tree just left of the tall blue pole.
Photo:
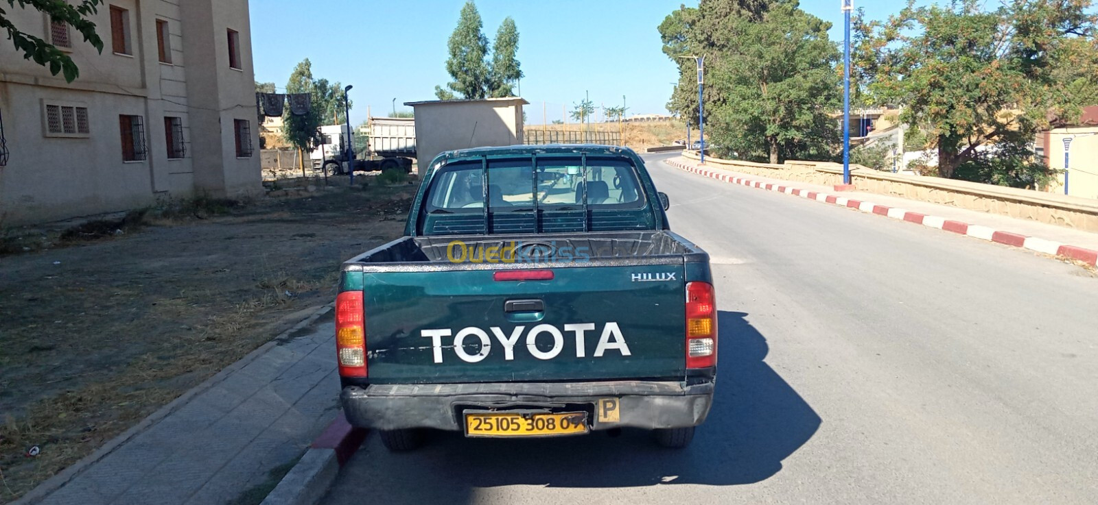
<svg viewBox="0 0 1098 505">
<path fill-rule="evenodd" d="M 705 56 L 707 134 L 720 151 L 777 163 L 831 159 L 841 104 L 830 23 L 795 0 L 703 0 L 660 24 L 681 78 L 668 108 L 697 125 L 697 70 Z"/>
</svg>

